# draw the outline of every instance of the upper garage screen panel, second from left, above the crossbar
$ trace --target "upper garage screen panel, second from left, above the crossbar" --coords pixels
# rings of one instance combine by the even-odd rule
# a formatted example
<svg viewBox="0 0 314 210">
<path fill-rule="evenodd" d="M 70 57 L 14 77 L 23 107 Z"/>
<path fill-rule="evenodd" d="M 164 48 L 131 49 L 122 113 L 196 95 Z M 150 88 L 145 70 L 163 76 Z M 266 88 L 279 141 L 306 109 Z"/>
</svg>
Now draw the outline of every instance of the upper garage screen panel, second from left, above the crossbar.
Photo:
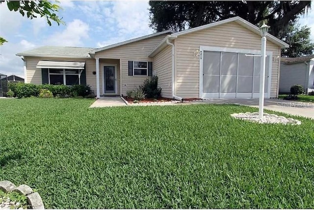
<svg viewBox="0 0 314 210">
<path fill-rule="evenodd" d="M 221 75 L 236 75 L 237 53 L 221 53 Z"/>
</svg>

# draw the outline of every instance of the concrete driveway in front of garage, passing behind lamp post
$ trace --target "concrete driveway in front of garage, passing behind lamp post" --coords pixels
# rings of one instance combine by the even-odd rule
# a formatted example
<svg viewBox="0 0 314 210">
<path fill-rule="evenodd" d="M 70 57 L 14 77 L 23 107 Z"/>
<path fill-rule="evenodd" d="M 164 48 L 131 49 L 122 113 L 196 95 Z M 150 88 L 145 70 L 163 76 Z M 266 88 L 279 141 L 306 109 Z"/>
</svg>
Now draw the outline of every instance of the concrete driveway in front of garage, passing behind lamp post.
<svg viewBox="0 0 314 210">
<path fill-rule="evenodd" d="M 237 104 L 259 107 L 259 99 L 209 99 L 210 104 Z M 314 103 L 287 101 L 282 99 L 265 99 L 264 109 L 284 112 L 291 115 L 314 119 Z"/>
</svg>

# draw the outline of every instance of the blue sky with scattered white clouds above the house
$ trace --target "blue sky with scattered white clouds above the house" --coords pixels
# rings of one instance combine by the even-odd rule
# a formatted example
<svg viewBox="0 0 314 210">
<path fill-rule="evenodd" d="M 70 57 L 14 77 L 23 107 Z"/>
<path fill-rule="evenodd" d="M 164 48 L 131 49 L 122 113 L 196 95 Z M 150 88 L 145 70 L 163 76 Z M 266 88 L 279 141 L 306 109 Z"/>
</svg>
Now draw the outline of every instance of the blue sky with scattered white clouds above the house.
<svg viewBox="0 0 314 210">
<path fill-rule="evenodd" d="M 148 1 L 60 1 L 59 17 L 66 25 L 48 26 L 46 19 L 29 20 L 0 5 L 0 73 L 24 76 L 23 61 L 16 53 L 40 46 L 104 47 L 151 34 Z M 299 21 L 311 27 L 314 40 L 314 9 Z"/>
</svg>

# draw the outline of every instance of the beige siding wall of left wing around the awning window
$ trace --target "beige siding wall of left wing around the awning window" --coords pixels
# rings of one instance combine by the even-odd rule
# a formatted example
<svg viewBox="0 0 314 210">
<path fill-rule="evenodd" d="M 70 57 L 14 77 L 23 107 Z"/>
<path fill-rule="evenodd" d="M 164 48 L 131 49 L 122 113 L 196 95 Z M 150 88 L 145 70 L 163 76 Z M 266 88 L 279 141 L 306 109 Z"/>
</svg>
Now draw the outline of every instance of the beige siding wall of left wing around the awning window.
<svg viewBox="0 0 314 210">
<path fill-rule="evenodd" d="M 96 71 L 95 59 L 86 58 L 55 58 L 55 57 L 25 57 L 26 59 L 26 81 L 27 83 L 42 84 L 41 69 L 37 69 L 36 65 L 40 60 L 54 60 L 54 61 L 78 61 L 85 62 L 86 68 L 86 84 L 91 86 L 91 89 L 96 93 L 96 75 L 93 75 L 93 71 Z"/>
</svg>

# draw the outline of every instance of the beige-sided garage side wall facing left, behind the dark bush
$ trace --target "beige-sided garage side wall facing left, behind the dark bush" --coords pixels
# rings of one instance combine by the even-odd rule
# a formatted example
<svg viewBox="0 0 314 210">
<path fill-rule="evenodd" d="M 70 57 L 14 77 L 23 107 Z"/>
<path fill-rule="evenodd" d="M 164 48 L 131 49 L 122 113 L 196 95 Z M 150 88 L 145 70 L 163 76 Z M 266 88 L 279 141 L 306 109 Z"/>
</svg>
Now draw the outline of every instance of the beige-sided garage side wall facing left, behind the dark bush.
<svg viewBox="0 0 314 210">
<path fill-rule="evenodd" d="M 172 47 L 168 46 L 153 58 L 153 69 L 158 77 L 161 96 L 172 98 Z"/>
</svg>

